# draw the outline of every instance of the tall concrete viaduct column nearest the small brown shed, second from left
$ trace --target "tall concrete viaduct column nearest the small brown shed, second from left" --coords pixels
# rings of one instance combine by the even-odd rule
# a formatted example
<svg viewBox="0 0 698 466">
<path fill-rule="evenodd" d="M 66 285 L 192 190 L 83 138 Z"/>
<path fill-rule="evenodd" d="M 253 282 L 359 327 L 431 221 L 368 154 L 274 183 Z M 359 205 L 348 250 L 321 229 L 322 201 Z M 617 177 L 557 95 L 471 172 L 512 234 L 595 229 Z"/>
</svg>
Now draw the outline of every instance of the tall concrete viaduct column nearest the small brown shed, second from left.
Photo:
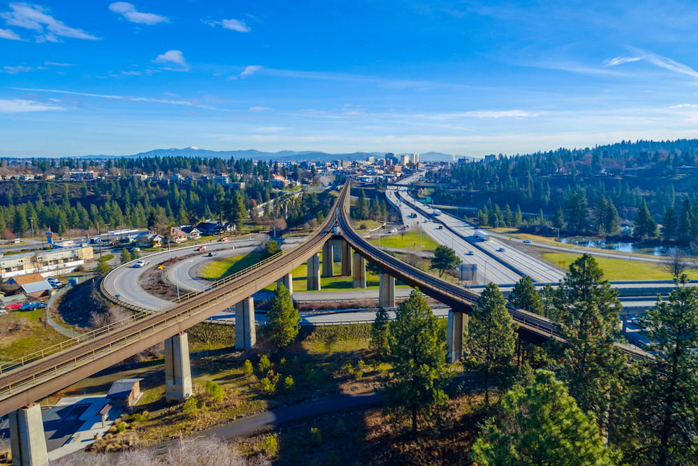
<svg viewBox="0 0 698 466">
<path fill-rule="evenodd" d="M 165 401 L 181 403 L 192 393 L 189 338 L 182 332 L 165 340 Z"/>
</svg>

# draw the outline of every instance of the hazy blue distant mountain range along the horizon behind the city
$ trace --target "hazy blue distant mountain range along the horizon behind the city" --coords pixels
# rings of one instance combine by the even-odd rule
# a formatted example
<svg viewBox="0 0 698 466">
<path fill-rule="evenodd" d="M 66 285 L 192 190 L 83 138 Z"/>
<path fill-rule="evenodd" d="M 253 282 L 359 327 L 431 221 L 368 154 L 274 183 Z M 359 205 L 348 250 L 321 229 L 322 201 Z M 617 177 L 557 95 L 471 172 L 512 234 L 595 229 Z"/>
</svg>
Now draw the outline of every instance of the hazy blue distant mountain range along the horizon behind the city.
<svg viewBox="0 0 698 466">
<path fill-rule="evenodd" d="M 377 159 L 385 156 L 383 152 L 352 152 L 351 154 L 328 154 L 327 152 L 317 151 L 293 151 L 282 150 L 280 152 L 262 152 L 259 150 L 206 150 L 199 147 L 184 147 L 184 149 L 154 149 L 148 152 L 139 152 L 133 155 L 88 155 L 82 156 L 81 159 L 105 159 L 105 158 L 137 158 L 137 157 L 203 157 L 203 158 L 218 158 L 218 159 L 253 159 L 253 160 L 269 160 L 269 161 L 332 161 L 332 160 L 366 160 L 366 157 L 374 156 Z M 456 161 L 461 156 L 453 154 L 443 154 L 441 152 L 426 152 L 419 154 L 421 161 Z M 472 157 L 468 157 L 472 158 Z"/>
</svg>

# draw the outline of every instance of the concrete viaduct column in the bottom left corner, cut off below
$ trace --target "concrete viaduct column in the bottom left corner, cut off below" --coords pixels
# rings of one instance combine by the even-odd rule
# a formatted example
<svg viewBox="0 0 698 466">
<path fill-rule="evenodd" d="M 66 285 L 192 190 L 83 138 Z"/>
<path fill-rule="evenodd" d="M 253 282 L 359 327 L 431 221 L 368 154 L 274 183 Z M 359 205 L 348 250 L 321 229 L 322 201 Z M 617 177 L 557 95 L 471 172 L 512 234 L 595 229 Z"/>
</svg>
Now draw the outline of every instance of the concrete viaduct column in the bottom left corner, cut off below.
<svg viewBox="0 0 698 466">
<path fill-rule="evenodd" d="M 29 405 L 10 413 L 10 449 L 13 465 L 48 464 L 40 405 Z"/>
</svg>

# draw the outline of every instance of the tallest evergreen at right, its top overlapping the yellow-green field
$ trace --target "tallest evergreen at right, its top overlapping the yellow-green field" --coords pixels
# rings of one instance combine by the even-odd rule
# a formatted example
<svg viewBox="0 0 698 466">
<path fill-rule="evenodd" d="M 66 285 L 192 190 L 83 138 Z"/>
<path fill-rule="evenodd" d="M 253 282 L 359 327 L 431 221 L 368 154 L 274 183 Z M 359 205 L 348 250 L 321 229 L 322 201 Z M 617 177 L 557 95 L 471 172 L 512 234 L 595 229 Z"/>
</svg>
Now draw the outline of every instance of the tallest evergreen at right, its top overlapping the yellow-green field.
<svg viewBox="0 0 698 466">
<path fill-rule="evenodd" d="M 585 412 L 597 414 L 605 427 L 609 394 L 617 383 L 623 358 L 614 347 L 621 302 L 618 291 L 603 278 L 591 254 L 570 265 L 564 281 L 565 303 L 560 309 L 560 336 L 566 343 L 558 349 L 558 369 L 570 393 Z"/>
</svg>

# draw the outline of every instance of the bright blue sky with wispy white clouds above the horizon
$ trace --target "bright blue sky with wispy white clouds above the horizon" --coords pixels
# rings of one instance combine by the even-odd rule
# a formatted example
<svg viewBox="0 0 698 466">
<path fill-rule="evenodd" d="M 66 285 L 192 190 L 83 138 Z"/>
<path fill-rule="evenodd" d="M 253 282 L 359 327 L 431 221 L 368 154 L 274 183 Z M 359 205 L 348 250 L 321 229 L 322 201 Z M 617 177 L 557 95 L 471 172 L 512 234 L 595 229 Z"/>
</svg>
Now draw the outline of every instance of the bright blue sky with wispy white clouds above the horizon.
<svg viewBox="0 0 698 466">
<path fill-rule="evenodd" d="M 0 156 L 698 137 L 692 1 L 0 2 Z"/>
</svg>

